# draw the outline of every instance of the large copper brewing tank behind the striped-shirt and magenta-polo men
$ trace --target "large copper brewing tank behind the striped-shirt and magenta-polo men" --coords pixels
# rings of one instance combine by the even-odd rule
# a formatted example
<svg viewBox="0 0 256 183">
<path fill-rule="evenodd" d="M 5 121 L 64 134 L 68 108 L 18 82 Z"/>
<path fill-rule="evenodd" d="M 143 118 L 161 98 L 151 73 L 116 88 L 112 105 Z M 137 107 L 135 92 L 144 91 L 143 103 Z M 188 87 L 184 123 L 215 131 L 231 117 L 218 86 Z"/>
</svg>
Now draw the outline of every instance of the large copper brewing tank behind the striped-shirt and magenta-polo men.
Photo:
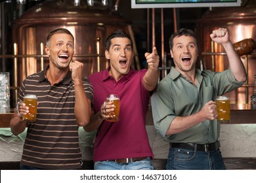
<svg viewBox="0 0 256 183">
<path fill-rule="evenodd" d="M 17 86 L 26 76 L 41 71 L 49 63 L 47 56 L 43 56 L 45 40 L 49 31 L 58 27 L 66 27 L 74 35 L 74 60 L 84 63 L 85 76 L 108 66 L 104 43 L 112 31 L 124 29 L 133 37 L 131 25 L 119 12 L 96 1 L 93 7 L 85 1 L 75 6 L 74 0 L 45 1 L 35 5 L 14 22 L 14 54 L 21 56 L 16 58 Z"/>
</svg>

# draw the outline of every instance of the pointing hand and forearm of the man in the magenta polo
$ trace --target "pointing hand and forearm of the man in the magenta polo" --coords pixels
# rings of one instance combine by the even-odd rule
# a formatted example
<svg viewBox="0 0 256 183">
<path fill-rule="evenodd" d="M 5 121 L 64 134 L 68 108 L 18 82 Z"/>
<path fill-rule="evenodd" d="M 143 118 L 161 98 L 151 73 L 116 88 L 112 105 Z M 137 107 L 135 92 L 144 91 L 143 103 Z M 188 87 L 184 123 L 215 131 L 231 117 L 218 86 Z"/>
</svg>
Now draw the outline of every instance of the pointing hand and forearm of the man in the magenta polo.
<svg viewBox="0 0 256 183">
<path fill-rule="evenodd" d="M 148 91 L 152 91 L 156 88 L 158 84 L 158 79 L 160 76 L 160 71 L 158 69 L 159 56 L 156 47 L 153 48 L 152 53 L 145 53 L 145 58 L 148 63 L 148 71 L 143 77 L 143 85 Z"/>
</svg>

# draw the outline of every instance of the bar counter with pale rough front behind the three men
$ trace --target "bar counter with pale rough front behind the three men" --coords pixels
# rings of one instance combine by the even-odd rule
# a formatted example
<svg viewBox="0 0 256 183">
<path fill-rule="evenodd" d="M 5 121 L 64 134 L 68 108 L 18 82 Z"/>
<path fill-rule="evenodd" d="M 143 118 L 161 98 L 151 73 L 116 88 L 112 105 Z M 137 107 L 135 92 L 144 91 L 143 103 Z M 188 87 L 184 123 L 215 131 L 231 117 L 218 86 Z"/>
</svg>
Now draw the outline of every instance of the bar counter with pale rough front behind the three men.
<svg viewBox="0 0 256 183">
<path fill-rule="evenodd" d="M 249 105 L 230 105 L 231 122 L 222 123 L 221 127 L 221 153 L 227 169 L 256 169 L 256 110 L 251 110 Z M 19 169 L 19 161 L 22 155 L 26 131 L 21 135 L 12 135 L 9 122 L 14 110 L 0 113 L 0 168 Z M 81 129 L 80 129 L 81 128 Z M 163 137 L 157 133 L 152 112 L 148 110 L 146 116 L 146 130 L 155 160 L 152 162 L 155 169 L 165 169 L 165 163 L 169 152 L 169 143 L 163 141 Z M 92 169 L 93 161 L 93 139 L 92 134 L 85 133 L 79 127 L 79 144 L 82 159 Z"/>
</svg>

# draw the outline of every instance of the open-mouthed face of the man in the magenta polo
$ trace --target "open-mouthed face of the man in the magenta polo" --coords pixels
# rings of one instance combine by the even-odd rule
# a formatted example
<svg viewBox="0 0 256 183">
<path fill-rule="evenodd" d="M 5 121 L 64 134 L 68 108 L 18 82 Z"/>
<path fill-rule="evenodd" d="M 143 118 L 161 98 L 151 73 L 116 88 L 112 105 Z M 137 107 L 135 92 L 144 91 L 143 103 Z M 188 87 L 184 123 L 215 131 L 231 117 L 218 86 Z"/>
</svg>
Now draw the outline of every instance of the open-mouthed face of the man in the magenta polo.
<svg viewBox="0 0 256 183">
<path fill-rule="evenodd" d="M 110 75 L 119 80 L 130 71 L 133 61 L 131 41 L 127 37 L 111 39 L 110 48 L 105 51 L 105 56 L 110 60 Z"/>
</svg>

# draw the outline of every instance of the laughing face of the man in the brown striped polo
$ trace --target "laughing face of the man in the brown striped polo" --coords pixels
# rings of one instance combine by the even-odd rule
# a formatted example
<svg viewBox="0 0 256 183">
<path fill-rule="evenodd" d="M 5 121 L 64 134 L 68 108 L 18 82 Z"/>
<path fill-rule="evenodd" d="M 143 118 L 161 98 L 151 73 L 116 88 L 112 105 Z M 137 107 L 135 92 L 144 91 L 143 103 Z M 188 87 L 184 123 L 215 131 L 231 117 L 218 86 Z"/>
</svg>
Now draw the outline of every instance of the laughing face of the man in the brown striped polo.
<svg viewBox="0 0 256 183">
<path fill-rule="evenodd" d="M 56 33 L 51 37 L 49 45 L 45 46 L 45 52 L 49 55 L 50 67 L 68 69 L 68 65 L 74 55 L 74 39 L 66 33 Z"/>
</svg>

